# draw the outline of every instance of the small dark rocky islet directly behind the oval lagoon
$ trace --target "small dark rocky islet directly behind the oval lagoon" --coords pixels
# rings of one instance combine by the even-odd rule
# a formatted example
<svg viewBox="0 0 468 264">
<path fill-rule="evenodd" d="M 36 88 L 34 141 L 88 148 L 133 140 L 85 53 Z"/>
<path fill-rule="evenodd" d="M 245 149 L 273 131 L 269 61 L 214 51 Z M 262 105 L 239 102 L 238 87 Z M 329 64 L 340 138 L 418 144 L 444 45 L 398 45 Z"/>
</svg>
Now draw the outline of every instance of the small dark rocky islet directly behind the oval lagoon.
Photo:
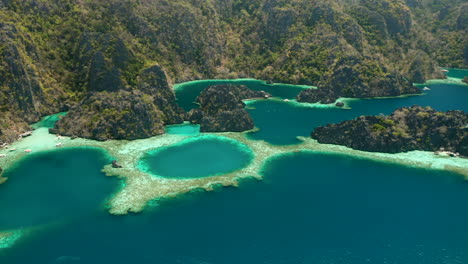
<svg viewBox="0 0 468 264">
<path fill-rule="evenodd" d="M 243 99 L 265 98 L 269 94 L 252 91 L 243 85 L 213 85 L 198 96 L 200 108 L 192 109 L 188 119 L 200 124 L 202 132 L 242 132 L 254 128 Z"/>
</svg>

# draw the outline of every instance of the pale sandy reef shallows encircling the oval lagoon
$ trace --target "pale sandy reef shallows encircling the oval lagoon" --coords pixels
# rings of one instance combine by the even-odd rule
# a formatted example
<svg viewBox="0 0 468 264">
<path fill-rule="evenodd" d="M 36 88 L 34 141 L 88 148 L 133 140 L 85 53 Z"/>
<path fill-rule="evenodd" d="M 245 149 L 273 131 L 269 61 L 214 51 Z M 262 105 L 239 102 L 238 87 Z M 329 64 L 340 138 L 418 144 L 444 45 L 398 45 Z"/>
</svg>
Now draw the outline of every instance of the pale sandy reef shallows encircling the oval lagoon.
<svg viewBox="0 0 468 264">
<path fill-rule="evenodd" d="M 299 145 L 273 146 L 264 141 L 248 139 L 244 133 L 203 134 L 203 136 L 206 135 L 216 136 L 221 139 L 234 139 L 247 145 L 254 154 L 253 161 L 245 168 L 229 174 L 195 179 L 168 179 L 139 170 L 139 160 L 148 151 L 180 143 L 189 136 L 166 134 L 134 141 L 111 140 L 98 142 L 86 139 L 72 140 L 67 137 L 58 139 L 55 135 L 49 134 L 47 129 L 41 128 L 35 130 L 32 136 L 14 143 L 10 148 L 16 148 L 16 151 L 1 150 L 0 154 L 6 154 L 7 156 L 0 158 L 0 166 L 8 168 L 19 158 L 30 155 L 24 152 L 25 149 L 31 149 L 33 152 L 53 150 L 57 148 L 56 144 L 58 142 L 62 143 L 62 148 L 102 148 L 123 166 L 121 169 L 115 169 L 107 165 L 103 169 L 107 176 L 117 176 L 123 180 L 121 188 L 108 203 L 109 212 L 112 214 L 140 212 L 152 200 L 171 197 L 196 189 L 209 191 L 212 190 L 214 185 L 235 186 L 240 178 L 255 177 L 261 179 L 260 172 L 266 160 L 295 151 L 341 154 L 418 168 L 447 170 L 459 173 L 468 179 L 468 159 L 436 156 L 432 152 L 412 151 L 399 154 L 365 152 L 344 146 L 319 144 L 317 141 L 305 137 L 299 137 L 302 141 Z"/>
</svg>

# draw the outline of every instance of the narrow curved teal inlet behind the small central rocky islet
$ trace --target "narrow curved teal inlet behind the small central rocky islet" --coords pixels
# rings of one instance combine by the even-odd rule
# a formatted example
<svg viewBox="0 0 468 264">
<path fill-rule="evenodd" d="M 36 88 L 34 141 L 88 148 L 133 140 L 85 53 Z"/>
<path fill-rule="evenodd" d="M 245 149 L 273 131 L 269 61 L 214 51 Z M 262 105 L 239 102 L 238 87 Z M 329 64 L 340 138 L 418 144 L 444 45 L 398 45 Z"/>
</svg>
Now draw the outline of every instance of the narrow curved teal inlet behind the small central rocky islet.
<svg viewBox="0 0 468 264">
<path fill-rule="evenodd" d="M 190 111 L 192 108 L 197 108 L 195 100 L 198 95 L 207 87 L 219 84 L 234 84 L 245 85 L 254 91 L 265 91 L 275 97 L 294 99 L 304 89 L 311 88 L 305 85 L 292 84 L 267 84 L 265 81 L 256 79 L 233 79 L 233 80 L 200 80 L 185 82 L 174 85 L 174 91 L 177 98 L 177 103 L 185 110 Z"/>
</svg>

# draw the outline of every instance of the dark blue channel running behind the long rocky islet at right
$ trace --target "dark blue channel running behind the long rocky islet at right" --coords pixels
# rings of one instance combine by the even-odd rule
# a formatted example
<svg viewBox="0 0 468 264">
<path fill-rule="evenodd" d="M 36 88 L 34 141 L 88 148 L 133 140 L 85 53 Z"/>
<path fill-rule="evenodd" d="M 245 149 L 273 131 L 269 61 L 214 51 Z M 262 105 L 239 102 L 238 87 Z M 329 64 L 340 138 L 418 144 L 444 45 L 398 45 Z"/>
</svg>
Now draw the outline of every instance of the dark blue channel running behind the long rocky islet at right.
<svg viewBox="0 0 468 264">
<path fill-rule="evenodd" d="M 431 106 L 439 111 L 468 112 L 468 86 L 433 84 L 425 95 L 389 99 L 365 99 L 350 103 L 352 109 L 305 108 L 282 101 L 263 100 L 249 104 L 248 111 L 260 130 L 252 139 L 276 145 L 299 143 L 297 136 L 309 136 L 317 126 L 353 119 L 361 115 L 390 114 L 403 106 Z"/>
</svg>

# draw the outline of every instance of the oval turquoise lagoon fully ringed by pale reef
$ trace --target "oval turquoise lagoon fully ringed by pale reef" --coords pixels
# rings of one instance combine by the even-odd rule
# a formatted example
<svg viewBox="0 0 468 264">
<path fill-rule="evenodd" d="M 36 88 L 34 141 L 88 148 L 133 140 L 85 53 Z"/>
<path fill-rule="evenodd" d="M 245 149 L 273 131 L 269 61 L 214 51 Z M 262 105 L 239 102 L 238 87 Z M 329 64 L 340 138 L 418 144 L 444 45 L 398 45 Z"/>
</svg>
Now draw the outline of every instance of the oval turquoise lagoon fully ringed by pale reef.
<svg viewBox="0 0 468 264">
<path fill-rule="evenodd" d="M 238 141 L 199 136 L 146 153 L 139 168 L 165 178 L 191 179 L 230 173 L 252 159 L 252 150 Z"/>
</svg>

